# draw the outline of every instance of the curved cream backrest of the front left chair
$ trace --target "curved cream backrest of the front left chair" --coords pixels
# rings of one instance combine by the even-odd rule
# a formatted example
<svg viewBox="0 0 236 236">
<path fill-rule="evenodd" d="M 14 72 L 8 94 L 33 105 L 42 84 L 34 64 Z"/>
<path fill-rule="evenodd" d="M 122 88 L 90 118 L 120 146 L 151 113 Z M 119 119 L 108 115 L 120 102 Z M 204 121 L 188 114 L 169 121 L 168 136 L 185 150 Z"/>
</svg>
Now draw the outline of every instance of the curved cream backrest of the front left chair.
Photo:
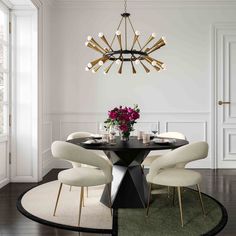
<svg viewBox="0 0 236 236">
<path fill-rule="evenodd" d="M 71 162 L 78 162 L 101 169 L 108 179 L 112 176 L 112 163 L 96 153 L 86 150 L 78 145 L 65 141 L 55 141 L 51 146 L 52 155 L 55 158 L 64 159 Z"/>
</svg>

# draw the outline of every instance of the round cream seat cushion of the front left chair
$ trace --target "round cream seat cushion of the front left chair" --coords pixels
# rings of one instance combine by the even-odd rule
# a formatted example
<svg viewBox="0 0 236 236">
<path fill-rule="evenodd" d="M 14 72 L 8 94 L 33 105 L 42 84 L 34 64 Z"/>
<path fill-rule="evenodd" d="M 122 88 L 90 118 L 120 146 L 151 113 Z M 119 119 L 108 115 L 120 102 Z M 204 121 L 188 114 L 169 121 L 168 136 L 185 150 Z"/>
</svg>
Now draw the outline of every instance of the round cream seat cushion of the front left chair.
<svg viewBox="0 0 236 236">
<path fill-rule="evenodd" d="M 58 180 L 71 186 L 96 186 L 111 182 L 102 170 L 90 167 L 63 170 L 58 174 Z"/>
</svg>

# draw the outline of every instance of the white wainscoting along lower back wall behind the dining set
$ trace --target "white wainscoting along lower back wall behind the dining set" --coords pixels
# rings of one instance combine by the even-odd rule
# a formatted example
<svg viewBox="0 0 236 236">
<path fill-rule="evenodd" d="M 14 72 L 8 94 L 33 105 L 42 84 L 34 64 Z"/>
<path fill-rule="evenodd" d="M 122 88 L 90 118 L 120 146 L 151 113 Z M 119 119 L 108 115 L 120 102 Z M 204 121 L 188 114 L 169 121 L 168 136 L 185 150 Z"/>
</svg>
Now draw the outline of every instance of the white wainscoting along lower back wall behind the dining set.
<svg viewBox="0 0 236 236">
<path fill-rule="evenodd" d="M 66 140 L 75 131 L 99 132 L 99 123 L 106 119 L 106 113 L 51 113 L 44 117 L 43 132 L 43 175 L 51 168 L 69 167 L 70 164 L 52 158 L 50 146 L 54 140 Z M 179 131 L 190 142 L 207 141 L 210 145 L 209 156 L 202 161 L 193 162 L 191 168 L 211 168 L 210 113 L 179 112 L 152 113 L 143 112 L 135 129 L 150 131 L 150 124 L 157 123 L 159 132 Z M 134 132 L 135 134 L 135 132 Z"/>
</svg>

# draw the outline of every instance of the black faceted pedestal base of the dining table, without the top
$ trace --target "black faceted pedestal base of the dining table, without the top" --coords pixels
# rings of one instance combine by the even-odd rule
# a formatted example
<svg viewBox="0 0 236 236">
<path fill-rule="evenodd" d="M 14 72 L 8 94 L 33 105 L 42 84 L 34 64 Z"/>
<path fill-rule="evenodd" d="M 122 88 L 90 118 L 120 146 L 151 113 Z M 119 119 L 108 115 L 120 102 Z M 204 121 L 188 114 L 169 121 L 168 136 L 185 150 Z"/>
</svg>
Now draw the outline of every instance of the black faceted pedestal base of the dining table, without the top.
<svg viewBox="0 0 236 236">
<path fill-rule="evenodd" d="M 148 184 L 141 163 L 149 150 L 105 151 L 105 153 L 113 163 L 112 208 L 146 207 Z M 104 189 L 101 202 L 109 206 L 107 189 Z"/>
</svg>

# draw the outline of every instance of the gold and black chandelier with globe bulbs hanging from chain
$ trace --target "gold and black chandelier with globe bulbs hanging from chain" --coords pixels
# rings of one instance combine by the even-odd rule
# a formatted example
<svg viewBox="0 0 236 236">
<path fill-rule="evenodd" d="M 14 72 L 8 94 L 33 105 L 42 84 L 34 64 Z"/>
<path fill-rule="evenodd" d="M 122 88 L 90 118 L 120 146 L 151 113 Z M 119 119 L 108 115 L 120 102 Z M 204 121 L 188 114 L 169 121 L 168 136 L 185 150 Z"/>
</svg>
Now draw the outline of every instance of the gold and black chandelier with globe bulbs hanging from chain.
<svg viewBox="0 0 236 236">
<path fill-rule="evenodd" d="M 85 45 L 89 48 L 92 48 L 96 52 L 100 53 L 100 57 L 94 61 L 91 61 L 86 66 L 86 71 L 92 71 L 96 73 L 106 62 L 111 61 L 111 63 L 104 69 L 104 74 L 107 74 L 114 63 L 119 65 L 118 73 L 122 74 L 123 64 L 124 62 L 130 63 L 132 67 L 133 74 L 136 74 L 135 65 L 142 65 L 143 69 L 146 73 L 150 72 L 148 65 L 145 65 L 144 62 L 151 65 L 156 71 L 160 71 L 165 68 L 163 62 L 154 59 L 151 54 L 156 50 L 160 49 L 166 44 L 166 41 L 163 37 L 161 37 L 156 43 L 154 43 L 151 47 L 148 47 L 151 41 L 156 38 L 156 34 L 152 33 L 146 43 L 141 46 L 139 37 L 140 32 L 138 30 L 135 31 L 133 24 L 130 20 L 130 13 L 127 13 L 127 2 L 124 0 L 124 13 L 121 14 L 122 18 L 117 27 L 116 33 L 111 41 L 108 42 L 107 38 L 103 33 L 99 33 L 98 37 L 103 41 L 106 45 L 105 47 L 101 46 L 95 39 L 91 36 L 88 36 L 87 42 Z M 124 26 L 122 28 L 122 26 Z M 131 33 L 133 35 L 133 41 L 128 46 L 128 26 L 131 29 Z M 122 37 L 122 30 L 124 31 L 124 39 Z M 114 49 L 114 42 L 117 38 L 117 43 L 119 49 Z M 123 39 L 123 40 L 122 40 Z M 139 49 L 135 49 L 138 47 Z"/>
</svg>

